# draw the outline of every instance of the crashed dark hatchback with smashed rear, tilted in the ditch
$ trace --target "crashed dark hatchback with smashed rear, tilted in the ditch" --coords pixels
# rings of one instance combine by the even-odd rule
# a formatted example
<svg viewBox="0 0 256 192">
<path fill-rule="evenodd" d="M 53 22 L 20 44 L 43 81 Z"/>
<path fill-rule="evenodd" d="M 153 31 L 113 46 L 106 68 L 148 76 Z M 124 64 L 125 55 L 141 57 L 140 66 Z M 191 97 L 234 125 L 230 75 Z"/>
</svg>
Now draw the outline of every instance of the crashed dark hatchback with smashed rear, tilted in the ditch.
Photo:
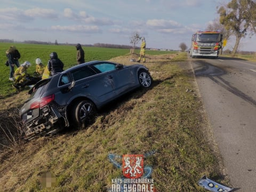
<svg viewBox="0 0 256 192">
<path fill-rule="evenodd" d="M 153 79 L 140 64 L 90 61 L 39 81 L 20 109 L 25 139 L 52 135 L 70 125 L 85 127 L 98 109 Z"/>
</svg>

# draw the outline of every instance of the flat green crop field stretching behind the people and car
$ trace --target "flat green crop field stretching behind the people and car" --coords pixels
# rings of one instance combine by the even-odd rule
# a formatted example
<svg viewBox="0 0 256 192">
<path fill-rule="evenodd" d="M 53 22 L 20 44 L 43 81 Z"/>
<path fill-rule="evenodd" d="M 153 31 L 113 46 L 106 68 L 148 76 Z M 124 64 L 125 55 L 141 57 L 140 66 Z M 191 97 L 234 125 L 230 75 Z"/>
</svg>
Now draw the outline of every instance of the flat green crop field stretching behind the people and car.
<svg viewBox="0 0 256 192">
<path fill-rule="evenodd" d="M 32 66 L 28 69 L 29 74 L 33 74 L 35 71 L 35 60 L 40 58 L 43 61 L 44 66 L 47 65 L 50 59 L 51 52 L 57 52 L 59 59 L 64 63 L 64 69 L 76 65 L 76 47 L 71 45 L 39 45 L 39 44 L 23 44 L 23 43 L 0 43 L 0 97 L 3 98 L 6 95 L 10 95 L 15 92 L 11 87 L 12 82 L 9 81 L 10 68 L 4 65 L 7 60 L 5 51 L 11 46 L 17 47 L 21 54 L 19 60 L 20 64 L 24 61 L 29 61 Z M 109 60 L 111 58 L 130 54 L 128 49 L 112 49 L 103 47 L 83 47 L 85 52 L 85 61 L 93 60 Z M 135 53 L 139 53 L 139 50 L 135 50 Z M 164 53 L 173 53 L 166 51 Z M 157 55 L 163 54 L 163 51 L 147 51 L 146 54 Z M 15 68 L 16 69 L 16 68 Z"/>
</svg>

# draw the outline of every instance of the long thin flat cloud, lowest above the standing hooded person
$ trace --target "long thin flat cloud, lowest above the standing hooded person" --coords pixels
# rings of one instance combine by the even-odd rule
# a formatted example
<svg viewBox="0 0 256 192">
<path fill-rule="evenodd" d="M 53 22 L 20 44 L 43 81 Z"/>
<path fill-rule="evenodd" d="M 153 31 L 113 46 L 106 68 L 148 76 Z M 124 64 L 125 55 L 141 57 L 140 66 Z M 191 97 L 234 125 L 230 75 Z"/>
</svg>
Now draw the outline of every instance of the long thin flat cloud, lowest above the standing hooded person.
<svg viewBox="0 0 256 192">
<path fill-rule="evenodd" d="M 51 29 L 59 31 L 71 31 L 71 32 L 83 32 L 83 33 L 101 33 L 98 26 L 84 26 L 84 25 L 72 25 L 72 26 L 52 26 Z"/>
</svg>

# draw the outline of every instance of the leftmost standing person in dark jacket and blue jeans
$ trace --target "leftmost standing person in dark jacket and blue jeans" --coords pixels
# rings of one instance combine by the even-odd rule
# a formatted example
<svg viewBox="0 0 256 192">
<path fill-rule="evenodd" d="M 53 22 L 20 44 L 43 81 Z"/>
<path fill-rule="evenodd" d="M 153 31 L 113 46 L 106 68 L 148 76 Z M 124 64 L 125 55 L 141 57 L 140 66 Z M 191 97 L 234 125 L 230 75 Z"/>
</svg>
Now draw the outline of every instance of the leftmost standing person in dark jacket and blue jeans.
<svg viewBox="0 0 256 192">
<path fill-rule="evenodd" d="M 8 58 L 8 65 L 10 66 L 10 76 L 9 80 L 13 81 L 13 74 L 14 74 L 14 66 L 16 65 L 17 68 L 20 67 L 19 59 L 20 53 L 16 49 L 15 46 L 10 46 L 8 50 L 6 50 L 6 57 Z"/>
</svg>

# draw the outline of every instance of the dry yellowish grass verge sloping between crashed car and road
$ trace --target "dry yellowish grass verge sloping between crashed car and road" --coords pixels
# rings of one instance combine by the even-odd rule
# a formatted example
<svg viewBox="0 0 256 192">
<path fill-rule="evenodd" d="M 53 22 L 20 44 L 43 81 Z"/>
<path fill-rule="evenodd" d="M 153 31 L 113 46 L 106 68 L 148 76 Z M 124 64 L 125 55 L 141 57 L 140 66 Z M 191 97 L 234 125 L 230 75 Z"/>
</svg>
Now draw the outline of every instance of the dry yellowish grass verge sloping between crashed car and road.
<svg viewBox="0 0 256 192">
<path fill-rule="evenodd" d="M 150 90 L 111 103 L 87 129 L 34 139 L 2 155 L 0 191 L 107 191 L 111 179 L 122 176 L 109 154 L 150 154 L 144 164 L 153 169 L 157 191 L 204 191 L 197 185 L 204 174 L 220 181 L 186 58 L 186 53 L 148 57 L 154 78 Z M 112 60 L 131 64 L 127 56 Z M 45 172 L 52 174 L 55 187 L 43 187 Z"/>
</svg>

